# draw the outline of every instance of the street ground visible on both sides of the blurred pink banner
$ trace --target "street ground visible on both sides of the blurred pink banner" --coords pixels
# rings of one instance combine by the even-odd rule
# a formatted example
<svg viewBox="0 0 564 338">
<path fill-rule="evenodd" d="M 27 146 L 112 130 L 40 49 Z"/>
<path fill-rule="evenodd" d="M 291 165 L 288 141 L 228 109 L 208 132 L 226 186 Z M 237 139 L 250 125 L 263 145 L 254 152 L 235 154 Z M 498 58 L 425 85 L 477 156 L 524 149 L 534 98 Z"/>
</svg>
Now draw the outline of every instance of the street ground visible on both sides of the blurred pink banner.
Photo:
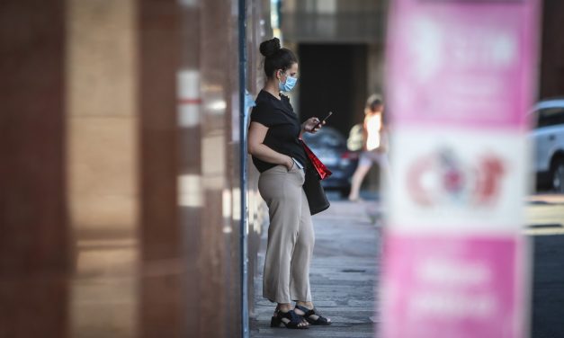
<svg viewBox="0 0 564 338">
<path fill-rule="evenodd" d="M 336 195 L 330 195 L 336 199 Z M 334 324 L 308 330 L 270 328 L 274 304 L 262 298 L 262 276 L 255 278 L 255 313 L 251 337 L 373 337 L 379 322 L 377 287 L 380 218 L 377 201 L 332 200 L 331 208 L 314 217 L 316 246 L 311 287 L 318 310 Z M 532 338 L 564 338 L 564 198 L 535 195 L 526 200 L 523 233 L 534 245 Z M 376 217 L 375 217 L 376 216 Z M 374 220 L 374 222 L 372 222 Z M 265 233 L 266 228 L 264 228 Z M 266 237 L 259 253 L 263 270 Z"/>
</svg>

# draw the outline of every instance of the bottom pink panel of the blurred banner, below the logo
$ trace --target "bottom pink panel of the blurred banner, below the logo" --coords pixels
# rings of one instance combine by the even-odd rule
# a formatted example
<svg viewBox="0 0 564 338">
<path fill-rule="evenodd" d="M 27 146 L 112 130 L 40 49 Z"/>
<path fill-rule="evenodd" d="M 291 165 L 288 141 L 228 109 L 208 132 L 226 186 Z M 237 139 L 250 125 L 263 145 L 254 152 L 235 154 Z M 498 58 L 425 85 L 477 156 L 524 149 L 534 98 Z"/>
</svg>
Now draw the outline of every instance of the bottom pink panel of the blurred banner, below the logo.
<svg viewBox="0 0 564 338">
<path fill-rule="evenodd" d="M 516 238 L 387 236 L 383 337 L 524 337 Z"/>
</svg>

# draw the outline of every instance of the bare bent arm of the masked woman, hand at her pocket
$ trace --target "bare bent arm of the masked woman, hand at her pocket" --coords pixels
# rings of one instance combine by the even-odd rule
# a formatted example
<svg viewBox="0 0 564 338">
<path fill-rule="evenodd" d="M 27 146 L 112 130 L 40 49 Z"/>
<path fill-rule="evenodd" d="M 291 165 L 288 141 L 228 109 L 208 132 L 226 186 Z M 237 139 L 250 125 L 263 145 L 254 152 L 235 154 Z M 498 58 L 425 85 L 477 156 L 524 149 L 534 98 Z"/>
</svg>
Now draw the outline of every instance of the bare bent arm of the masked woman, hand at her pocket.
<svg viewBox="0 0 564 338">
<path fill-rule="evenodd" d="M 273 148 L 264 145 L 264 138 L 268 127 L 258 123 L 251 122 L 248 132 L 247 151 L 250 155 L 255 156 L 264 162 L 276 165 L 284 165 L 288 170 L 294 165 L 294 161 L 290 156 L 283 155 Z"/>
</svg>

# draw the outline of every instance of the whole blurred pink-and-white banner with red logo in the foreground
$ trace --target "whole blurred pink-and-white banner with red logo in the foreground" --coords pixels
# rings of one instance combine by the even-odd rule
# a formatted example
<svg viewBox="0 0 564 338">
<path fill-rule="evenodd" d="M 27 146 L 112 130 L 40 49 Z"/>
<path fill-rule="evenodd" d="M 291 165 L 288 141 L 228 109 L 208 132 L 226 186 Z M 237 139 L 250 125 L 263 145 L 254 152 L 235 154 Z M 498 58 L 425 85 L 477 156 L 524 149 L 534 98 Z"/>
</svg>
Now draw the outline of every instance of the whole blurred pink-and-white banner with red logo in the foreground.
<svg viewBox="0 0 564 338">
<path fill-rule="evenodd" d="M 382 338 L 523 338 L 537 0 L 391 4 Z"/>
</svg>

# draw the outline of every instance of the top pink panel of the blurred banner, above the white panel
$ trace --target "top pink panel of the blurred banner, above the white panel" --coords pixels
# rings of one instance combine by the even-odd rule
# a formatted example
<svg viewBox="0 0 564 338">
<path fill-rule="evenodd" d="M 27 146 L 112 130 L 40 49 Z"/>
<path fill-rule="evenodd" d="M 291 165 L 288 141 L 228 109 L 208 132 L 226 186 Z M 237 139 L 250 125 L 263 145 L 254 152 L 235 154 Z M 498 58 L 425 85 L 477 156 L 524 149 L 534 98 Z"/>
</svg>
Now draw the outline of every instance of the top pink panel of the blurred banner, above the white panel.
<svg viewBox="0 0 564 338">
<path fill-rule="evenodd" d="M 395 0 L 394 124 L 524 128 L 536 73 L 536 1 Z"/>
</svg>

